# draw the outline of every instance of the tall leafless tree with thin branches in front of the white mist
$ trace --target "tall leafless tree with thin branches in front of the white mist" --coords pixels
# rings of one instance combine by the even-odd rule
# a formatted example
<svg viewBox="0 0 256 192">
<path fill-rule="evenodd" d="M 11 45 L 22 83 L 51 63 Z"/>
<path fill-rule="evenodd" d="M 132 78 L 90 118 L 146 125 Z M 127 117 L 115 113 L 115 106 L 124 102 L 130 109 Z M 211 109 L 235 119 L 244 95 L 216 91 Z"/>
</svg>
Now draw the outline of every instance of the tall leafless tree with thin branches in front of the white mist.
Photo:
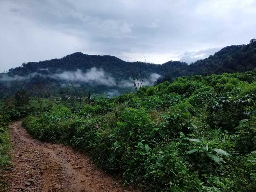
<svg viewBox="0 0 256 192">
<path fill-rule="evenodd" d="M 143 54 L 142 54 L 143 55 Z M 143 55 L 144 59 L 145 59 L 145 63 L 147 65 L 147 60 L 146 60 L 146 57 Z M 142 86 L 143 84 L 143 81 L 144 81 L 144 77 L 146 75 L 146 72 L 145 71 L 142 71 L 141 69 L 141 65 L 138 66 L 135 64 L 133 68 L 130 69 L 131 71 L 131 74 L 132 74 L 132 82 L 133 82 L 133 86 L 136 90 L 136 92 L 139 91 L 140 87 Z"/>
</svg>

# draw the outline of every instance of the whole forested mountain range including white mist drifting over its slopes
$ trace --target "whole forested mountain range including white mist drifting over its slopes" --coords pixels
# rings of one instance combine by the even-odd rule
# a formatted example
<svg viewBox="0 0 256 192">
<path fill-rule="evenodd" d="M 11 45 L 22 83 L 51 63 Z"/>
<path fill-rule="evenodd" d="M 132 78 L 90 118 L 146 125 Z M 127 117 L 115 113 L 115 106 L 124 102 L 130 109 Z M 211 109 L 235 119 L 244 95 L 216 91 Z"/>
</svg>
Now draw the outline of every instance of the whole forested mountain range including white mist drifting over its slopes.
<svg viewBox="0 0 256 192">
<path fill-rule="evenodd" d="M 76 52 L 60 59 L 23 63 L 8 73 L 0 74 L 0 81 L 8 82 L 29 76 L 30 82 L 49 81 L 57 87 L 68 80 L 82 79 L 94 91 L 131 89 L 131 71 L 145 71 L 145 85 L 154 83 L 159 76 L 210 75 L 224 72 L 244 72 L 256 67 L 256 42 L 227 46 L 204 60 L 188 65 L 180 61 L 164 64 L 126 62 L 115 56 L 86 55 Z M 160 81 L 161 82 L 161 81 Z M 1 90 L 4 90 L 1 85 Z"/>
</svg>

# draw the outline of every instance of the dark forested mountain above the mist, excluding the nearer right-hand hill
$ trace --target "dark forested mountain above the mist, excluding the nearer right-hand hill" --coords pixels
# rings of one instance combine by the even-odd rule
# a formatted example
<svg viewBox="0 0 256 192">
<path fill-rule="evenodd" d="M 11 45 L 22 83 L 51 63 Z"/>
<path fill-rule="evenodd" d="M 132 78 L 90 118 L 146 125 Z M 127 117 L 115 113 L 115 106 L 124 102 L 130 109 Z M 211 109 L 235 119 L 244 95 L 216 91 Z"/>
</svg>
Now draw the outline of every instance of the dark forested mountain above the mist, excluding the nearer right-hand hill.
<svg viewBox="0 0 256 192">
<path fill-rule="evenodd" d="M 106 73 L 115 78 L 129 78 L 131 68 L 139 66 L 146 74 L 158 73 L 164 75 L 166 71 L 173 71 L 173 76 L 182 76 L 186 74 L 188 64 L 180 61 L 168 61 L 162 65 L 156 65 L 144 62 L 126 62 L 115 56 L 109 55 L 86 55 L 76 52 L 60 59 L 45 60 L 39 62 L 23 63 L 21 67 L 12 68 L 9 76 L 27 76 L 37 72 L 44 75 L 62 73 L 64 71 L 76 71 L 81 69 L 86 72 L 92 67 L 102 68 Z M 45 70 L 47 69 L 47 70 Z"/>
</svg>

